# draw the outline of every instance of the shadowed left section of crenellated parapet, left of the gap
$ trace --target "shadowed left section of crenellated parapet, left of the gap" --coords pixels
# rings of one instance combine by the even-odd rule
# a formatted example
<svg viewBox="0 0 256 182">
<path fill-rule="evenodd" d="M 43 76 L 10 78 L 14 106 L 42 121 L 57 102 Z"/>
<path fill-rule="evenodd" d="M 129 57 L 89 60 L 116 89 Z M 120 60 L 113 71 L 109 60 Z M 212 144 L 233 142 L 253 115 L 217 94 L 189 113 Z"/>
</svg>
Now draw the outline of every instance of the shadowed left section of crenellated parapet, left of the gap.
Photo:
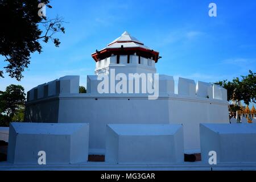
<svg viewBox="0 0 256 182">
<path fill-rule="evenodd" d="M 27 92 L 27 101 L 73 93 L 79 93 L 79 76 L 64 76 L 29 90 Z"/>
</svg>

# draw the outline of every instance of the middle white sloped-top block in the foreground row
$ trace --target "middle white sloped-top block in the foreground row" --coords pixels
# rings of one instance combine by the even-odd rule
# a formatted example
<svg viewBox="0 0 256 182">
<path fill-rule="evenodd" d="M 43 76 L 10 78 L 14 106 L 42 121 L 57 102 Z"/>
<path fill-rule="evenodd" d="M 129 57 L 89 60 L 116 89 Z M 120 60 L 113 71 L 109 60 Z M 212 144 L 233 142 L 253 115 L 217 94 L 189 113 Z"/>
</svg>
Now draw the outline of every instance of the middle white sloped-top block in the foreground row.
<svg viewBox="0 0 256 182">
<path fill-rule="evenodd" d="M 107 163 L 179 163 L 184 161 L 182 125 L 109 124 Z"/>
</svg>

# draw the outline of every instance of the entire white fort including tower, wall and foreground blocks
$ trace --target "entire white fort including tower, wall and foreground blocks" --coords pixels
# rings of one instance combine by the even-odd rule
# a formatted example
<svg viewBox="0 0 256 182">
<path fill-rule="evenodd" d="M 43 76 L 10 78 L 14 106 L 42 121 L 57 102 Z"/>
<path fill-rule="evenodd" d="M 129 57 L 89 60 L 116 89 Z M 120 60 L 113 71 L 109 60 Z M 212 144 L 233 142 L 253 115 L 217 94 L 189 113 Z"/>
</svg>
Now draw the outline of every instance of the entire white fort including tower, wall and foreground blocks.
<svg viewBox="0 0 256 182">
<path fill-rule="evenodd" d="M 159 52 L 127 32 L 92 57 L 87 93 L 79 76 L 28 91 L 26 122 L 1 129 L 9 144 L 0 169 L 256 169 L 256 125 L 229 123 L 224 88 L 158 75 Z M 199 152 L 201 162 L 184 162 Z"/>
</svg>

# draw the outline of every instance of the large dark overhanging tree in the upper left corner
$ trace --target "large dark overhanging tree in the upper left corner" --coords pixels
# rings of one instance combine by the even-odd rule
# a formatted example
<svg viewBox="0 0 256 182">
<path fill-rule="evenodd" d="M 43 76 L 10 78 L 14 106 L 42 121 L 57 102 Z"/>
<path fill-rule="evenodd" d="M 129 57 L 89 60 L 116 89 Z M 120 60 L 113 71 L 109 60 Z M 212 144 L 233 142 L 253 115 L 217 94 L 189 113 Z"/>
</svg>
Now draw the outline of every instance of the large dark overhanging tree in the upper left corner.
<svg viewBox="0 0 256 182">
<path fill-rule="evenodd" d="M 63 18 L 39 16 L 39 3 L 52 8 L 48 0 L 0 0 L 0 55 L 8 63 L 4 67 L 6 72 L 16 80 L 23 77 L 22 72 L 30 64 L 31 53 L 42 52 L 39 40 L 45 43 L 51 40 L 59 47 L 60 40 L 54 35 L 65 32 Z M 0 71 L 0 77 L 3 77 L 3 71 Z"/>
</svg>

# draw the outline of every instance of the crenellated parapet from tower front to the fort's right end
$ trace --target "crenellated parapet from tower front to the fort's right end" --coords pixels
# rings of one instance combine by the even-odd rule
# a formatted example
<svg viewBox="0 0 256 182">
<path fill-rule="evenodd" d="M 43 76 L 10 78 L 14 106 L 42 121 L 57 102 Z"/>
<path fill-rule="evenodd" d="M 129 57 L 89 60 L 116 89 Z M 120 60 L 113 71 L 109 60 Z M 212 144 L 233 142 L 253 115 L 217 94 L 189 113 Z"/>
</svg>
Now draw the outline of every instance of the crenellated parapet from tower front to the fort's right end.
<svg viewBox="0 0 256 182">
<path fill-rule="evenodd" d="M 142 74 L 138 74 L 139 77 L 139 92 L 137 94 L 141 93 L 150 93 L 148 90 L 146 92 L 143 92 L 143 88 L 148 89 L 147 85 L 147 74 L 146 77 L 144 77 Z M 152 80 L 155 80 L 154 74 L 152 74 Z M 104 77 L 99 77 L 98 75 L 88 75 L 87 76 L 87 93 L 91 94 L 101 94 L 98 92 L 98 85 L 102 83 L 104 79 L 108 79 L 108 92 L 107 93 L 113 93 L 110 90 L 110 86 L 113 84 L 114 86 L 117 86 L 119 79 L 115 79 L 115 77 L 112 77 L 111 75 L 105 75 Z M 133 92 L 136 87 L 135 80 L 133 77 L 133 80 L 129 80 L 129 76 L 125 77 L 125 84 L 127 92 L 123 92 L 125 94 L 133 94 L 136 92 Z M 133 84 L 130 84 L 133 82 Z M 152 85 L 154 85 L 154 82 L 152 82 Z M 129 92 L 129 87 L 132 86 L 132 92 Z M 174 77 L 168 76 L 168 75 L 158 75 L 158 92 L 159 95 L 164 94 L 174 94 L 175 90 L 175 81 Z M 156 91 L 156 90 L 155 90 Z M 194 98 L 209 98 L 209 99 L 216 99 L 216 100 L 227 100 L 227 92 L 226 89 L 224 89 L 222 86 L 216 85 L 216 84 L 210 84 L 208 82 L 198 81 L 197 83 L 194 80 L 187 79 L 187 78 L 179 78 L 179 81 L 177 83 L 177 95 L 184 96 L 184 97 L 194 97 Z"/>
</svg>

